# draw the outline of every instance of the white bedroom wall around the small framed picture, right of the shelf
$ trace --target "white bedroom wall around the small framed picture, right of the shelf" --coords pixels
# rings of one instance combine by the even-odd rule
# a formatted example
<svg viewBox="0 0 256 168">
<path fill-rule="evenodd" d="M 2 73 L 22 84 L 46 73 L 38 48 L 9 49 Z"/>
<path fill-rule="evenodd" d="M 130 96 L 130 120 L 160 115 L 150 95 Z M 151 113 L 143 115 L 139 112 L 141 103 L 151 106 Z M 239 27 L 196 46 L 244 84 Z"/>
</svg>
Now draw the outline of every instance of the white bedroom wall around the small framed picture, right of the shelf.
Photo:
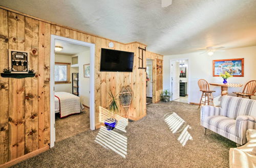
<svg viewBox="0 0 256 168">
<path fill-rule="evenodd" d="M 82 104 L 90 106 L 90 78 L 83 76 L 83 65 L 90 64 L 90 50 L 75 54 L 78 55 L 79 66 L 79 97 Z"/>
</svg>

